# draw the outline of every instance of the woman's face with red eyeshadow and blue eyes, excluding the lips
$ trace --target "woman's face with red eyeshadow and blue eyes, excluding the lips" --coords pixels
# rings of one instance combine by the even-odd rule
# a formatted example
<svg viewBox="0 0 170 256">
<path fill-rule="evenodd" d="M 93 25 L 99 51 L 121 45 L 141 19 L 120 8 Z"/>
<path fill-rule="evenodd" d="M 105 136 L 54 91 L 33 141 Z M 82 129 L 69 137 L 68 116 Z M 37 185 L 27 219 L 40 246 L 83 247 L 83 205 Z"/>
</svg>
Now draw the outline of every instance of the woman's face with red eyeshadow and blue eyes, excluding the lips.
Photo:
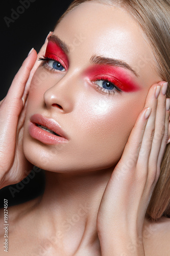
<svg viewBox="0 0 170 256">
<path fill-rule="evenodd" d="M 123 9 L 83 3 L 56 27 L 45 57 L 52 60 L 41 61 L 29 92 L 27 159 L 54 172 L 114 166 L 149 88 L 161 80 L 141 28 Z M 66 143 L 33 138 L 29 123 L 34 114 L 57 121 Z"/>
</svg>

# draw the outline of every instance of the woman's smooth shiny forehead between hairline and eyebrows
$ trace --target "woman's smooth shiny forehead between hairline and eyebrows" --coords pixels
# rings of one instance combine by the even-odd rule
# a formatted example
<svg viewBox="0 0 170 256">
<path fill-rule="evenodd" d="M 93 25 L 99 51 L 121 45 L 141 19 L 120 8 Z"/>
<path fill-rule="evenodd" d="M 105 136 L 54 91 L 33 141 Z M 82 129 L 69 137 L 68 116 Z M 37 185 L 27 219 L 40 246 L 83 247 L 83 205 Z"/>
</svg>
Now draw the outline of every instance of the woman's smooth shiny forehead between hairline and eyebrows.
<svg viewBox="0 0 170 256">
<path fill-rule="evenodd" d="M 95 54 L 122 59 L 137 73 L 140 70 L 141 75 L 144 72 L 150 77 L 156 66 L 141 27 L 130 13 L 117 6 L 85 2 L 68 13 L 54 33 L 74 49 L 75 56 L 81 56 L 82 65 Z"/>
</svg>

